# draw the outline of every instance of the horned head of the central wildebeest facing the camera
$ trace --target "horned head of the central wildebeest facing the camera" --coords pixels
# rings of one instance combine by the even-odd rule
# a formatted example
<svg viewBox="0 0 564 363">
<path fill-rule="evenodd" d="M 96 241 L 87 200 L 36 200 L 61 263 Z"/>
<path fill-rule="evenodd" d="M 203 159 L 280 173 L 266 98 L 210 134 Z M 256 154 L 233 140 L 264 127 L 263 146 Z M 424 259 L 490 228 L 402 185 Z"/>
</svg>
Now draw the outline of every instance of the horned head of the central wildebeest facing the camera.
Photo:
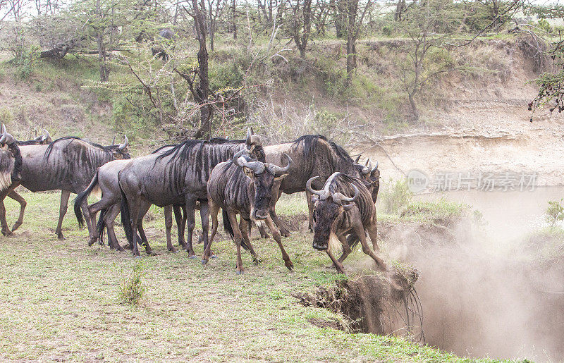
<svg viewBox="0 0 564 363">
<path fill-rule="evenodd" d="M 233 164 L 243 168 L 247 178 L 252 181 L 252 188 L 255 190 L 255 199 L 251 206 L 251 218 L 255 220 L 266 219 L 269 216 L 269 209 L 272 199 L 272 187 L 277 180 L 281 180 L 288 175 L 292 159 L 288 154 L 288 165 L 284 168 L 280 166 L 256 161 L 249 156 L 243 156 L 245 149 L 233 156 Z"/>
</svg>

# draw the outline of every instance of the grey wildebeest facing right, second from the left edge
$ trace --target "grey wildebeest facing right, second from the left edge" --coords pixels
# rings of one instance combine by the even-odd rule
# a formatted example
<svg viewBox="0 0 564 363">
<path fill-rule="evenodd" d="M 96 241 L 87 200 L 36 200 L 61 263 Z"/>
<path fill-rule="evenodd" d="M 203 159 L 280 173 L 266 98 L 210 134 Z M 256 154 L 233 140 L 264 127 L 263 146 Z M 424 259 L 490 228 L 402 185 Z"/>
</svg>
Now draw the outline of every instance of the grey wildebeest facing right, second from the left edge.
<svg viewBox="0 0 564 363">
<path fill-rule="evenodd" d="M 39 192 L 61 190 L 59 223 L 55 233 L 63 239 L 61 225 L 66 214 L 68 197 L 71 192 L 79 193 L 88 186 L 97 169 L 115 159 L 130 159 L 128 139 L 118 145 L 102 146 L 93 144 L 79 137 L 61 137 L 49 145 L 27 145 L 20 147 L 23 168 L 21 185 Z M 83 210 L 87 204 L 82 205 Z M 86 219 L 92 230 L 90 216 Z"/>
</svg>

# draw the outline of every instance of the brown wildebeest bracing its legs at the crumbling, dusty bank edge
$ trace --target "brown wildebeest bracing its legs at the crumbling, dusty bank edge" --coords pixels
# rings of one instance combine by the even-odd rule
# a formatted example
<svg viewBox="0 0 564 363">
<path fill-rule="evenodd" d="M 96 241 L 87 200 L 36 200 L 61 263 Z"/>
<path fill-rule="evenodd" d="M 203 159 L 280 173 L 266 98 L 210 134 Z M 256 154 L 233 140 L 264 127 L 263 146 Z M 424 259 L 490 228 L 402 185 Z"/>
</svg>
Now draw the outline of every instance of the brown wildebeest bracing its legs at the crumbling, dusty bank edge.
<svg viewBox="0 0 564 363">
<path fill-rule="evenodd" d="M 306 183 L 314 204 L 314 249 L 326 251 L 337 271 L 345 273 L 342 263 L 351 251 L 346 237 L 354 234 L 360 238 L 362 252 L 372 257 L 379 269 L 386 270 L 384 260 L 374 253 L 379 250 L 376 242 L 376 207 L 371 192 L 362 180 L 343 173 L 333 173 L 321 190 L 314 190 L 312 183 L 316 179 L 310 178 Z M 374 251 L 367 244 L 365 231 L 372 240 Z M 333 237 L 338 238 L 343 245 L 343 254 L 339 259 L 335 259 L 329 249 L 329 240 Z"/>
</svg>

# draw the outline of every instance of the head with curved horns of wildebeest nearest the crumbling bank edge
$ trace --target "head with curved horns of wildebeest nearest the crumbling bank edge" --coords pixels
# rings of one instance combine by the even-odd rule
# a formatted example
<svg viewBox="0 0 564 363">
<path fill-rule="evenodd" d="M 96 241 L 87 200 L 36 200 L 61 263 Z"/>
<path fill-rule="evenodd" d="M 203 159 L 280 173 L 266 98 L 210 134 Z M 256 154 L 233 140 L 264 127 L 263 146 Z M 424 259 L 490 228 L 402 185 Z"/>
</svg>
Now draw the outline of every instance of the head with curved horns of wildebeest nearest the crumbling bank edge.
<svg viewBox="0 0 564 363">
<path fill-rule="evenodd" d="M 307 180 L 306 189 L 312 193 L 312 202 L 314 204 L 313 222 L 314 236 L 313 247 L 316 250 L 325 251 L 329 248 L 329 237 L 331 233 L 335 233 L 335 226 L 343 216 L 343 211 L 348 211 L 355 206 L 355 200 L 358 197 L 358 188 L 352 185 L 355 190 L 353 197 L 347 197 L 340 192 L 331 193 L 329 191 L 329 183 L 326 183 L 323 190 L 314 190 L 312 181 L 318 176 Z"/>
</svg>

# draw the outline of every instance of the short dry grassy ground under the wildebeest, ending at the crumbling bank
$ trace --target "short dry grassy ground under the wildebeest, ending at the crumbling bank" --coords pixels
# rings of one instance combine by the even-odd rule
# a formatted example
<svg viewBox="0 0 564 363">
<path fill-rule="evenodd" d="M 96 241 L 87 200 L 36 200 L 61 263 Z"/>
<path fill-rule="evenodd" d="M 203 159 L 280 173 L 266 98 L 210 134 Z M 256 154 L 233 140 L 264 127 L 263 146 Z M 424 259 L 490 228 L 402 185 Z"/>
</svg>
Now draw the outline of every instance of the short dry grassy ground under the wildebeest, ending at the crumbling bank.
<svg viewBox="0 0 564 363">
<path fill-rule="evenodd" d="M 314 252 L 307 233 L 283 241 L 294 273 L 274 241 L 255 240 L 262 264 L 253 266 L 245 254 L 245 274 L 237 276 L 230 241 L 214 245 L 219 259 L 208 266 L 166 252 L 159 209 L 149 212 L 146 229 L 160 255 L 134 259 L 87 247 L 87 232 L 78 230 L 71 211 L 63 224 L 67 240 L 57 240 L 59 194 L 24 196 L 24 225 L 15 238 L 0 238 L 0 360 L 462 360 L 398 338 L 312 325 L 342 317 L 303 307 L 293 293 L 342 277 L 325 254 Z M 281 209 L 291 214 L 302 203 L 285 199 Z M 13 219 L 16 205 L 8 201 L 7 209 Z M 121 232 L 118 237 L 123 241 Z M 201 245 L 195 249 L 202 252 Z M 361 255 L 354 252 L 348 265 Z M 136 264 L 142 264 L 146 293 L 132 307 L 121 302 L 119 287 Z"/>
</svg>

